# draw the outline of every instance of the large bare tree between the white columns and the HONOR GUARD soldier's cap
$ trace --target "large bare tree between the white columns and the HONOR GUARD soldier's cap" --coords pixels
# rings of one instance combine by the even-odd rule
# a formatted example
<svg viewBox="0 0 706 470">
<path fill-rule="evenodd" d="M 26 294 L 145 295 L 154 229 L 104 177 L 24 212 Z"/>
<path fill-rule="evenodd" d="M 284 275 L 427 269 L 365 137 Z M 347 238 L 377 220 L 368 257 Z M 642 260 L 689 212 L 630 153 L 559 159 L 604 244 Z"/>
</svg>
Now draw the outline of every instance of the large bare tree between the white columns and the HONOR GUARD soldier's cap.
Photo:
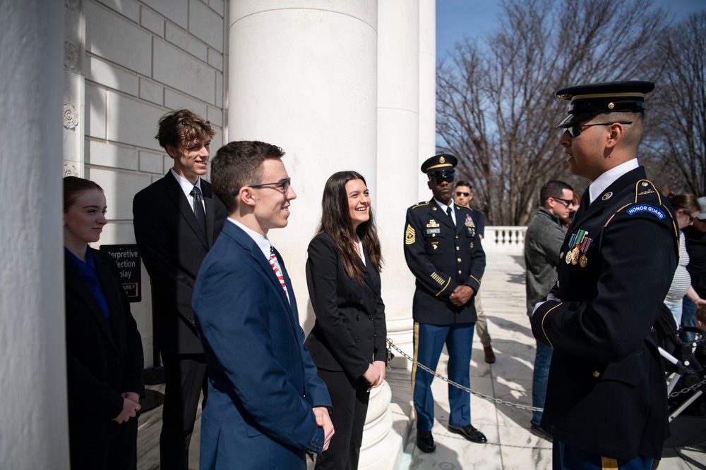
<svg viewBox="0 0 706 470">
<path fill-rule="evenodd" d="M 457 44 L 437 70 L 439 147 L 460 157 L 477 204 L 494 225 L 524 225 L 550 179 L 568 173 L 555 126 L 568 103 L 557 89 L 651 80 L 665 12 L 650 0 L 508 0 L 483 44 Z"/>
</svg>

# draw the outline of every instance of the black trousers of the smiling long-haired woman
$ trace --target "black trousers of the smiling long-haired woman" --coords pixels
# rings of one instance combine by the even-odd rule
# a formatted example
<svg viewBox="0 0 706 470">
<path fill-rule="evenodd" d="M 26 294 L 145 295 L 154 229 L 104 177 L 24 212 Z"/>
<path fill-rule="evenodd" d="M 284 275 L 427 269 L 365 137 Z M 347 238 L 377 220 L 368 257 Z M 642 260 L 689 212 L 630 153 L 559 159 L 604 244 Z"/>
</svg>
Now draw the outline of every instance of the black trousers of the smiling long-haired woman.
<svg viewBox="0 0 706 470">
<path fill-rule="evenodd" d="M 318 376 L 331 396 L 335 434 L 328 450 L 317 457 L 316 470 L 356 470 L 370 399 L 369 384 L 363 378 L 351 382 L 343 372 L 318 369 Z"/>
</svg>

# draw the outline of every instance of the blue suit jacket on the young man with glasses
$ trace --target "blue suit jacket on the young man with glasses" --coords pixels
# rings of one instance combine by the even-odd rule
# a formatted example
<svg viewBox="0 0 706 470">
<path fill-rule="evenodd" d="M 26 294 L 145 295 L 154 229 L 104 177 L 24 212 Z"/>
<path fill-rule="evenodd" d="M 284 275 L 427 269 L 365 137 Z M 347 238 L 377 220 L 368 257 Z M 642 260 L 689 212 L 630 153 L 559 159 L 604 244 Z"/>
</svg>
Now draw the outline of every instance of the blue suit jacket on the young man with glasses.
<svg viewBox="0 0 706 470">
<path fill-rule="evenodd" d="M 201 469 L 305 469 L 305 450 L 323 447 L 311 409 L 331 401 L 277 257 L 291 304 L 261 249 L 233 223 L 196 278 L 193 311 L 209 370 Z"/>
</svg>

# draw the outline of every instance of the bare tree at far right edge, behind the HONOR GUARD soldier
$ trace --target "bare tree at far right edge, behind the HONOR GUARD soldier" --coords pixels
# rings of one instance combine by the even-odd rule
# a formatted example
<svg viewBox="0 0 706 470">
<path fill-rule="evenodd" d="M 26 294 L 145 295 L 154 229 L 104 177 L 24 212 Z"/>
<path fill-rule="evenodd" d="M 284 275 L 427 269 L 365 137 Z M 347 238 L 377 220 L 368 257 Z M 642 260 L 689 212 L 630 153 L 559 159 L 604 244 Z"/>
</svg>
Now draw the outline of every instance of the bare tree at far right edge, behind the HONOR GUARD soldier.
<svg viewBox="0 0 706 470">
<path fill-rule="evenodd" d="M 674 192 L 706 195 L 706 11 L 670 27 L 663 36 L 660 86 L 647 141 L 660 157 L 663 184 Z"/>
</svg>

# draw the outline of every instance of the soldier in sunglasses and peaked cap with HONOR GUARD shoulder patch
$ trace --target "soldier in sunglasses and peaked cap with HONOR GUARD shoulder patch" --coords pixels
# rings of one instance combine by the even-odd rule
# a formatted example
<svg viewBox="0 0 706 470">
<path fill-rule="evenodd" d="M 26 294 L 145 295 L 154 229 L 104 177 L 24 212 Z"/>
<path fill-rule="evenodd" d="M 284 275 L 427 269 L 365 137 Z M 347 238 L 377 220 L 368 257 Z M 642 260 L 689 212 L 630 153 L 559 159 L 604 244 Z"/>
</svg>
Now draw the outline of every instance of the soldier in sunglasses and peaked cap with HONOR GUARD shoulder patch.
<svg viewBox="0 0 706 470">
<path fill-rule="evenodd" d="M 678 247 L 671 205 L 638 165 L 652 82 L 559 90 L 571 101 L 559 144 L 591 180 L 563 241 L 558 282 L 532 314 L 554 348 L 542 428 L 554 469 L 650 469 L 667 425 L 664 367 L 652 328 Z"/>
</svg>

